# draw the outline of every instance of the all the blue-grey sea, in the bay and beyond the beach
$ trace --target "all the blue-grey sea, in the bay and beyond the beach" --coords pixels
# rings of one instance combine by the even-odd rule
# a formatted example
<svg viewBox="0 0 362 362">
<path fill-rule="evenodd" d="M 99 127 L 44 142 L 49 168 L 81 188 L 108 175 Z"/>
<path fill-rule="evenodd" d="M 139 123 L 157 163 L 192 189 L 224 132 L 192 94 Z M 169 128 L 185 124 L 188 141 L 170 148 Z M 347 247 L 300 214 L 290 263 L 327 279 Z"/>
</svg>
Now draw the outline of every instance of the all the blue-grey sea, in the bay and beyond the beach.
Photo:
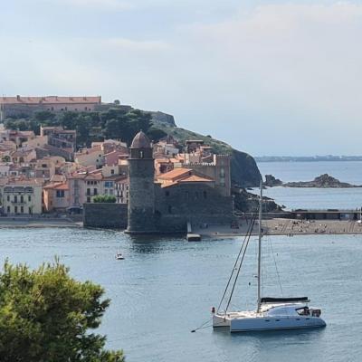
<svg viewBox="0 0 362 362">
<path fill-rule="evenodd" d="M 259 166 L 262 174 L 283 181 L 329 173 L 362 184 L 362 162 L 333 164 Z M 299 205 L 300 199 L 306 207 L 325 207 L 328 200 L 338 207 L 358 207 L 361 202 L 360 194 L 349 195 L 349 190 L 324 190 L 310 198 L 299 192 L 291 189 L 291 194 L 278 197 L 289 207 Z M 107 335 L 108 348 L 123 348 L 128 362 L 360 361 L 362 236 L 263 239 L 262 295 L 307 296 L 311 306 L 321 308 L 327 327 L 230 334 L 210 328 L 210 310 L 220 301 L 242 241 L 235 237 L 187 243 L 182 237 L 134 238 L 118 231 L 8 228 L 0 231 L 0 259 L 35 268 L 57 255 L 74 278 L 100 283 L 111 304 L 97 332 Z M 234 310 L 255 309 L 256 251 L 253 238 L 234 291 Z M 116 252 L 125 260 L 117 261 Z"/>
</svg>

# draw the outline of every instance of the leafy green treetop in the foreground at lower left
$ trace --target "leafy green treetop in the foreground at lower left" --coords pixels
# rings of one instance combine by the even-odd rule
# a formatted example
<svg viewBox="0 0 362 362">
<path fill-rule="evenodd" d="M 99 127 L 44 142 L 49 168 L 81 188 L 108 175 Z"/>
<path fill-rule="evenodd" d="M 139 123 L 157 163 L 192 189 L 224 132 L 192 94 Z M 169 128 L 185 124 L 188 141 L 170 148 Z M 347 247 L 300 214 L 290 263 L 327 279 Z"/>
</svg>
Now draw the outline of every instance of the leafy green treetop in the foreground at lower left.
<svg viewBox="0 0 362 362">
<path fill-rule="evenodd" d="M 104 290 L 75 281 L 56 260 L 36 270 L 5 262 L 0 272 L 2 362 L 123 362 L 97 329 L 110 305 Z"/>
</svg>

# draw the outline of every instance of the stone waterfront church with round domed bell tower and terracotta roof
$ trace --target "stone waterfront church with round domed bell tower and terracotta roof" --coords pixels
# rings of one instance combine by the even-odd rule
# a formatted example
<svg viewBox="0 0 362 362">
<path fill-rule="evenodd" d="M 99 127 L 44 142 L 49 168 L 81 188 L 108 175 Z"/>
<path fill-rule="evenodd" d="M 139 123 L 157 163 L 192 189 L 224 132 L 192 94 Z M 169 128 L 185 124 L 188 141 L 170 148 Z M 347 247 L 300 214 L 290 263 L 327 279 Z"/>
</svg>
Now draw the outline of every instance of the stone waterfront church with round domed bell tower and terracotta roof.
<svg viewBox="0 0 362 362">
<path fill-rule="evenodd" d="M 187 223 L 233 221 L 233 198 L 220 192 L 213 178 L 191 168 L 167 174 L 155 183 L 152 147 L 139 132 L 130 147 L 128 233 L 186 232 Z"/>
</svg>

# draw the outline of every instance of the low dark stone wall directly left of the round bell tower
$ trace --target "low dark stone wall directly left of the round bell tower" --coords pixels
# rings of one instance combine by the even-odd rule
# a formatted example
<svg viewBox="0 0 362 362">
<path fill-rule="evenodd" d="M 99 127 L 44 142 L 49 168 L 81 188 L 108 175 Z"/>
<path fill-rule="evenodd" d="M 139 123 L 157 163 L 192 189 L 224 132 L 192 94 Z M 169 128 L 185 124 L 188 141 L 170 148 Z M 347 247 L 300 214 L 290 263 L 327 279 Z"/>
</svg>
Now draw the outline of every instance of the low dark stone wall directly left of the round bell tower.
<svg viewBox="0 0 362 362">
<path fill-rule="evenodd" d="M 127 205 L 125 204 L 84 204 L 84 227 L 104 229 L 127 228 Z"/>
</svg>

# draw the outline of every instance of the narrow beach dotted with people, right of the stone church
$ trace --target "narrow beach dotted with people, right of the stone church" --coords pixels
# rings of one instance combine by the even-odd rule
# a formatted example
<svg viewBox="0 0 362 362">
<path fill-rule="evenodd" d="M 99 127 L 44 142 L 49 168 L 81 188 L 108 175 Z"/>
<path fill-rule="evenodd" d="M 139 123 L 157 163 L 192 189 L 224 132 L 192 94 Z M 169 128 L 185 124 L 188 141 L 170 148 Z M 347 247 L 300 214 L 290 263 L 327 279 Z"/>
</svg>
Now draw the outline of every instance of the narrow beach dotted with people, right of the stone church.
<svg viewBox="0 0 362 362">
<path fill-rule="evenodd" d="M 240 221 L 239 228 L 230 225 L 207 225 L 207 227 L 194 228 L 194 233 L 202 237 L 234 237 L 245 235 L 249 224 Z M 294 220 L 274 218 L 262 221 L 263 233 L 269 235 L 310 235 L 310 234 L 357 234 L 362 233 L 362 223 L 357 221 L 341 220 Z M 253 227 L 253 234 L 258 233 L 258 224 Z"/>
</svg>

